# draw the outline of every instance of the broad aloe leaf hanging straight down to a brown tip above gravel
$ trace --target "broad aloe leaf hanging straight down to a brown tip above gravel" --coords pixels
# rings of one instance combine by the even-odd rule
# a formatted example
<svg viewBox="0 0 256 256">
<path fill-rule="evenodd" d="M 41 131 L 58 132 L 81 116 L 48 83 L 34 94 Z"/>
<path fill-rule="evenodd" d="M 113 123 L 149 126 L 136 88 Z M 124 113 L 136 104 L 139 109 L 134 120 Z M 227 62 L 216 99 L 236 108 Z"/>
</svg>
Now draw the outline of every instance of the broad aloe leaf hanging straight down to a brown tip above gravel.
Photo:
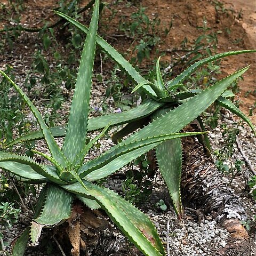
<svg viewBox="0 0 256 256">
<path fill-rule="evenodd" d="M 159 170 L 172 198 L 175 212 L 182 218 L 182 204 L 180 196 L 180 178 L 182 164 L 181 140 L 174 139 L 163 142 L 156 147 L 156 158 Z"/>
</svg>

